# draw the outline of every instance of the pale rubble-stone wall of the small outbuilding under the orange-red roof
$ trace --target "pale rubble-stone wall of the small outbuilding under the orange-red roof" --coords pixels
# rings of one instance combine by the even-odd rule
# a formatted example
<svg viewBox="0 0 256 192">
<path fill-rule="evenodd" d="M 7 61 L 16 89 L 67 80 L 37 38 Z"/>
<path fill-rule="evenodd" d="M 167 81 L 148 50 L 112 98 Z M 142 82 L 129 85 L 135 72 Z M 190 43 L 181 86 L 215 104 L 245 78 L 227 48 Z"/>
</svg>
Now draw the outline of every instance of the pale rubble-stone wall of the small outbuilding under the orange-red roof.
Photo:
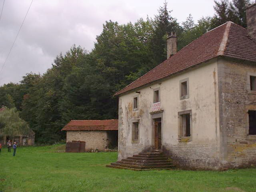
<svg viewBox="0 0 256 192">
<path fill-rule="evenodd" d="M 85 141 L 85 150 L 108 148 L 107 131 L 67 131 L 66 142 Z"/>
</svg>

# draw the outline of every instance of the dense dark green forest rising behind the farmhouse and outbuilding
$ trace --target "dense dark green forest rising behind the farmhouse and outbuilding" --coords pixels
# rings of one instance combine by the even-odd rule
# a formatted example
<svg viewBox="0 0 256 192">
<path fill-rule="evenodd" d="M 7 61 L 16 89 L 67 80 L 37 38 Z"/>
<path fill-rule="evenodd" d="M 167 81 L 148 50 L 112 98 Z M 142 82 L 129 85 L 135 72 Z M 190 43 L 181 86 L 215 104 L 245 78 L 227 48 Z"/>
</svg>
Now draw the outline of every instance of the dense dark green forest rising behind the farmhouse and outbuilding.
<svg viewBox="0 0 256 192">
<path fill-rule="evenodd" d="M 154 18 L 140 18 L 134 24 L 106 21 L 91 52 L 73 45 L 55 58 L 46 73 L 30 72 L 19 84 L 1 86 L 0 106 L 16 108 L 38 143 L 63 139 L 60 130 L 71 119 L 118 118 L 114 93 L 166 60 L 168 33 L 176 31 L 180 50 L 229 20 L 246 27 L 250 0 L 214 2 L 215 15 L 197 24 L 191 14 L 179 24 L 167 3 Z"/>
</svg>

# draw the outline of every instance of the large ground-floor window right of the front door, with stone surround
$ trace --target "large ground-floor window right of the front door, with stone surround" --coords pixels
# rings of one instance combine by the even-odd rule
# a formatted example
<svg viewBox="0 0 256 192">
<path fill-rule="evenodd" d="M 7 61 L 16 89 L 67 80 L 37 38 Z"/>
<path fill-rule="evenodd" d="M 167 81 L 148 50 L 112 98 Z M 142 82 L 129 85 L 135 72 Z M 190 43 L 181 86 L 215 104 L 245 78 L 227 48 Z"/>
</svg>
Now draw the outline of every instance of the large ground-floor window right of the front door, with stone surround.
<svg viewBox="0 0 256 192">
<path fill-rule="evenodd" d="M 181 141 L 192 140 L 192 126 L 191 126 L 192 111 L 178 112 L 179 117 L 179 138 Z M 184 139 L 184 140 L 183 140 Z"/>
</svg>

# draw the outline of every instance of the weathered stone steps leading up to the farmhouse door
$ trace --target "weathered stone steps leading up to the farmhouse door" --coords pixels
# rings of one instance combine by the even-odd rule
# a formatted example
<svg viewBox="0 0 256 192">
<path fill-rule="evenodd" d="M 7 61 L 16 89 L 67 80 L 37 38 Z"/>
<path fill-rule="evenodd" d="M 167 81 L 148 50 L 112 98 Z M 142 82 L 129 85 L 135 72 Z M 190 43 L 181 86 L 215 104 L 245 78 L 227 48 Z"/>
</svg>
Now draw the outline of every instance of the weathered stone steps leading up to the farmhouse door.
<svg viewBox="0 0 256 192">
<path fill-rule="evenodd" d="M 130 170 L 162 170 L 175 169 L 172 160 L 164 156 L 162 152 L 143 152 L 133 155 L 126 159 L 122 159 L 115 163 L 107 165 L 107 167 Z"/>
</svg>

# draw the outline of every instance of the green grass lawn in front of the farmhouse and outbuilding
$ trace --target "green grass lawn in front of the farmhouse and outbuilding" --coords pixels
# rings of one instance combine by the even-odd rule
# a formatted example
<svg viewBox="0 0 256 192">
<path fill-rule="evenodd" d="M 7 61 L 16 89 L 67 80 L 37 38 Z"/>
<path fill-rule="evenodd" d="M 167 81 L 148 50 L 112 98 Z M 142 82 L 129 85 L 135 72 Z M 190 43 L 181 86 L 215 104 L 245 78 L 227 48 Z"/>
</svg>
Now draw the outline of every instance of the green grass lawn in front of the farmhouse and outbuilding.
<svg viewBox="0 0 256 192">
<path fill-rule="evenodd" d="M 117 152 L 64 153 L 64 145 L 2 148 L 0 192 L 256 192 L 256 169 L 132 171 L 106 168 Z M 59 152 L 58 152 L 59 151 Z"/>
</svg>

